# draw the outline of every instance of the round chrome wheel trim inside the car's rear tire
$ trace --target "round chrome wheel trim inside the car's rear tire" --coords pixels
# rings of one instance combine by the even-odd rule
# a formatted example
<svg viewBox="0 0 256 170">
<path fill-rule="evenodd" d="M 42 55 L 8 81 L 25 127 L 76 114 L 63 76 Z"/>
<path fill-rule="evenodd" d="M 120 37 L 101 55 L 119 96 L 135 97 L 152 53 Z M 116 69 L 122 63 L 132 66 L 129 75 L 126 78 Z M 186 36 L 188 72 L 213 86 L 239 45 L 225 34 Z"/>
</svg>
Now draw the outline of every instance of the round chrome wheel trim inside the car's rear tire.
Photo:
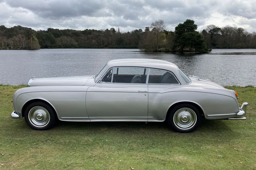
<svg viewBox="0 0 256 170">
<path fill-rule="evenodd" d="M 191 129 L 197 121 L 194 110 L 184 107 L 177 110 L 173 115 L 173 123 L 179 129 Z"/>
</svg>

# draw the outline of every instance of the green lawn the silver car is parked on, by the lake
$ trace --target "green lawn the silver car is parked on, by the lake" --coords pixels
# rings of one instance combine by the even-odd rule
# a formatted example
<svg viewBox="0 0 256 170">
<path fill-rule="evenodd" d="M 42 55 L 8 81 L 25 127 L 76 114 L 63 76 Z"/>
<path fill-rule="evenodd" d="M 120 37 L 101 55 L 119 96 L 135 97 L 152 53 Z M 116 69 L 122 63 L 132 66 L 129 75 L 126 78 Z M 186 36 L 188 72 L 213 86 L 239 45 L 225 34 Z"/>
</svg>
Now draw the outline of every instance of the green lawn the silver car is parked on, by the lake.
<svg viewBox="0 0 256 170">
<path fill-rule="evenodd" d="M 240 105 L 249 103 L 246 120 L 203 119 L 188 134 L 166 122 L 59 122 L 33 130 L 10 117 L 21 87 L 0 85 L 0 169 L 256 169 L 255 87 L 227 87 Z"/>
</svg>

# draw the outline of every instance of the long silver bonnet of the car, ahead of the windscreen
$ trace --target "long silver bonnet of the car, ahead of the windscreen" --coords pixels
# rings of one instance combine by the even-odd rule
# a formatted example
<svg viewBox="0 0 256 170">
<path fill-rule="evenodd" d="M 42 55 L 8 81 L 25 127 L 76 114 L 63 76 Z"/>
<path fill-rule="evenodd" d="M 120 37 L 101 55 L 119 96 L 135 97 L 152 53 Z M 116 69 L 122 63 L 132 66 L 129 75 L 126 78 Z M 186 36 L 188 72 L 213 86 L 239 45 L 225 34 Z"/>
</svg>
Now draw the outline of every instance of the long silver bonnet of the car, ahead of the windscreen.
<svg viewBox="0 0 256 170">
<path fill-rule="evenodd" d="M 53 78 L 32 78 L 28 85 L 85 85 L 88 78 L 91 76 L 76 76 L 76 77 L 53 77 Z"/>
</svg>

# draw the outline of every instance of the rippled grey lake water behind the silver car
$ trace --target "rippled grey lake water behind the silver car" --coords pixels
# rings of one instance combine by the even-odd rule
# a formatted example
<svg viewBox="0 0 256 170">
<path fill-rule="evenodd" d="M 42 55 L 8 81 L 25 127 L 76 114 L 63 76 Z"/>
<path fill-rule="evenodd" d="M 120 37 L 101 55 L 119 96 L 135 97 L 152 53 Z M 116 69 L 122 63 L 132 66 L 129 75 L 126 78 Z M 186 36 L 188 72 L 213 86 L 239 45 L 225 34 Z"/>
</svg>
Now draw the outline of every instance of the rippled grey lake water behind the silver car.
<svg viewBox="0 0 256 170">
<path fill-rule="evenodd" d="M 149 53 L 139 49 L 0 50 L 0 84 L 26 84 L 31 76 L 94 75 L 118 58 L 151 58 L 175 63 L 187 75 L 220 85 L 256 86 L 256 49 L 213 49 L 208 54 Z"/>
</svg>

